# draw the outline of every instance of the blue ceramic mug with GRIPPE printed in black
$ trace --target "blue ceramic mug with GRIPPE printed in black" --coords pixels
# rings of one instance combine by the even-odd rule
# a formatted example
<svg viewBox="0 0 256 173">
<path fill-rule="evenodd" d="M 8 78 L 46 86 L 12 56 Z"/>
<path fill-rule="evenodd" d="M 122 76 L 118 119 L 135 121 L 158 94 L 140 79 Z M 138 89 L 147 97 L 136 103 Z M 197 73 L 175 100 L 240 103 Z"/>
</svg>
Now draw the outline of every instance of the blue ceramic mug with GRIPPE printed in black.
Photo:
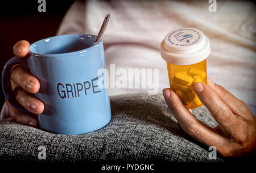
<svg viewBox="0 0 256 173">
<path fill-rule="evenodd" d="M 11 68 L 20 64 L 38 78 L 35 97 L 44 103 L 37 115 L 40 128 L 57 134 L 82 134 L 109 123 L 108 89 L 99 87 L 99 69 L 105 69 L 102 40 L 94 35 L 72 34 L 49 37 L 30 45 L 28 58 L 13 57 L 2 73 L 3 94 L 21 112 L 29 113 L 15 99 L 10 84 Z"/>
</svg>

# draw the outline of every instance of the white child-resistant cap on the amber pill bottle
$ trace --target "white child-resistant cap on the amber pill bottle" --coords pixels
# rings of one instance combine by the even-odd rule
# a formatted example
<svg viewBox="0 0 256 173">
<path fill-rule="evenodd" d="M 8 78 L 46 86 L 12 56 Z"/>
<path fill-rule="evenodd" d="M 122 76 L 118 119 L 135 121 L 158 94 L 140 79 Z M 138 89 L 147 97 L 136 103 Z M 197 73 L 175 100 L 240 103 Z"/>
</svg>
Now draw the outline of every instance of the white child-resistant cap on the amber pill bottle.
<svg viewBox="0 0 256 173">
<path fill-rule="evenodd" d="M 171 64 L 196 64 L 205 60 L 209 54 L 209 39 L 195 28 L 175 29 L 161 43 L 161 56 Z"/>
</svg>

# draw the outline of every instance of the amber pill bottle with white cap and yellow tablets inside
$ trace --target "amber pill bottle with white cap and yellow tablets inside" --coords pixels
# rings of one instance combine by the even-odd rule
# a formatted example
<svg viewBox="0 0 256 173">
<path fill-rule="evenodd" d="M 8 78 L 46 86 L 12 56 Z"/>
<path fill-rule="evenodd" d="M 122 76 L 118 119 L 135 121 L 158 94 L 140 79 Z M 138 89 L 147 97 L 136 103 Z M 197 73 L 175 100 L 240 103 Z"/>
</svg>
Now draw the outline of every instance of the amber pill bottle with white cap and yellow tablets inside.
<svg viewBox="0 0 256 173">
<path fill-rule="evenodd" d="M 170 87 L 189 109 L 203 106 L 193 84 L 207 83 L 209 54 L 209 39 L 195 28 L 175 29 L 161 43 L 161 56 L 167 62 Z"/>
</svg>

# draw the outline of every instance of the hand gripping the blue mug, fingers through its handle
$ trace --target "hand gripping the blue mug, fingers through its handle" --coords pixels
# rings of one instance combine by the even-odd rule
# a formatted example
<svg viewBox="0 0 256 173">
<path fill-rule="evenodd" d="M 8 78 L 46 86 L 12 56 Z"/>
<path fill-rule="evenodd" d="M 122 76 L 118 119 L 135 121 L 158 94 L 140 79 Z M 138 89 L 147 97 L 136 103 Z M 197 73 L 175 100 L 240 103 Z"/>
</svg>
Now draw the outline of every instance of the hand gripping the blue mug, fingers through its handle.
<svg viewBox="0 0 256 173">
<path fill-rule="evenodd" d="M 13 52 L 15 56 L 19 58 L 26 58 L 30 49 L 30 43 L 26 40 L 18 41 L 14 47 Z M 44 104 L 37 99 L 34 95 L 39 91 L 40 83 L 34 75 L 30 73 L 25 67 L 16 65 L 11 70 L 11 88 L 14 90 L 15 99 L 19 102 L 21 106 L 27 109 L 31 113 L 24 113 L 18 111 L 16 108 L 11 106 L 7 102 L 9 107 L 9 114 L 11 119 L 16 123 L 38 126 L 38 119 L 36 115 L 44 111 Z"/>
</svg>

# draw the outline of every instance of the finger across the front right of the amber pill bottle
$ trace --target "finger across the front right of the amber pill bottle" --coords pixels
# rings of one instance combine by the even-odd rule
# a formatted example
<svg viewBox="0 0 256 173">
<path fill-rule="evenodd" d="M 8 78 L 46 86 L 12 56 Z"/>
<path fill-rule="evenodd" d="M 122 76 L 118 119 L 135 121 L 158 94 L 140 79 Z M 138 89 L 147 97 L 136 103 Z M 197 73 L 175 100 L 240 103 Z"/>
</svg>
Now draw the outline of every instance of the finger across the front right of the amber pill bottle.
<svg viewBox="0 0 256 173">
<path fill-rule="evenodd" d="M 231 109 L 205 83 L 196 82 L 194 84 L 194 90 L 224 133 L 227 136 L 232 135 L 234 127 L 238 125 L 238 120 Z"/>
</svg>

